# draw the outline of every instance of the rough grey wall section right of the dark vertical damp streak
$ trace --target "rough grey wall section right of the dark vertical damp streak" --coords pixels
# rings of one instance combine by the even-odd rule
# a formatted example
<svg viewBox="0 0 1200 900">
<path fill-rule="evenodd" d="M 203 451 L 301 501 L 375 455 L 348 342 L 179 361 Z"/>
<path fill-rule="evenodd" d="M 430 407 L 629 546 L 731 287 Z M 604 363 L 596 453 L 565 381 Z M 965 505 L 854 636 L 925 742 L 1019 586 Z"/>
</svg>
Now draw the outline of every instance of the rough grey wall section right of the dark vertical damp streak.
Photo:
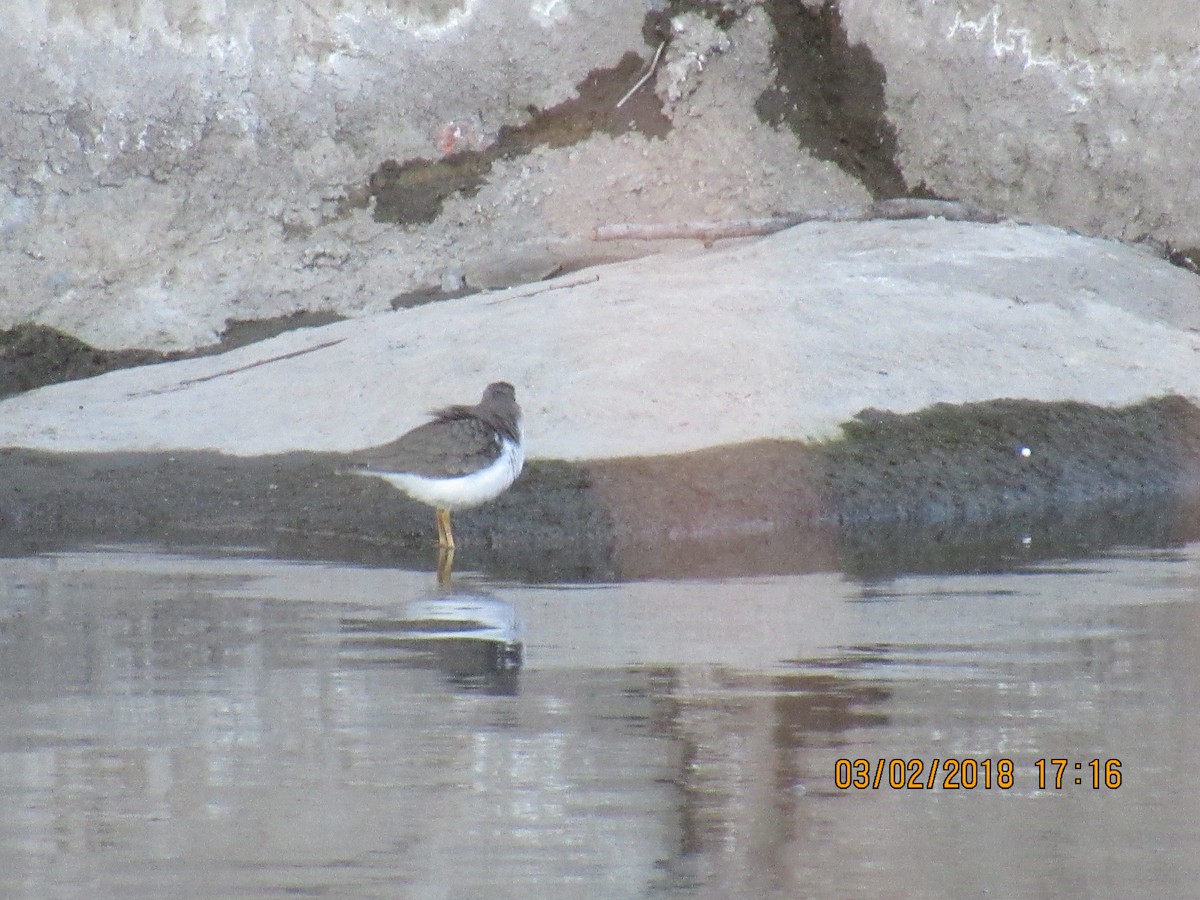
<svg viewBox="0 0 1200 900">
<path fill-rule="evenodd" d="M 887 71 L 910 185 L 1200 246 L 1200 22 L 1178 0 L 842 0 Z"/>
</svg>

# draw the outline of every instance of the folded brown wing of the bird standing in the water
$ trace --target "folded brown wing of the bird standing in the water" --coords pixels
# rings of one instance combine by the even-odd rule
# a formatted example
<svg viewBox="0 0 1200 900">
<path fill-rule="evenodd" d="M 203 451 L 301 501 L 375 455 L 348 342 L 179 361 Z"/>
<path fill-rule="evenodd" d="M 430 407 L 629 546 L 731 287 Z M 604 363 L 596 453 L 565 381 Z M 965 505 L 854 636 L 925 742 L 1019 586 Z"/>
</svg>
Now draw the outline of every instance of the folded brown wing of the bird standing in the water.
<svg viewBox="0 0 1200 900">
<path fill-rule="evenodd" d="M 494 430 L 479 419 L 437 419 L 390 444 L 356 454 L 355 463 L 371 472 L 454 478 L 484 468 L 499 454 Z"/>
</svg>

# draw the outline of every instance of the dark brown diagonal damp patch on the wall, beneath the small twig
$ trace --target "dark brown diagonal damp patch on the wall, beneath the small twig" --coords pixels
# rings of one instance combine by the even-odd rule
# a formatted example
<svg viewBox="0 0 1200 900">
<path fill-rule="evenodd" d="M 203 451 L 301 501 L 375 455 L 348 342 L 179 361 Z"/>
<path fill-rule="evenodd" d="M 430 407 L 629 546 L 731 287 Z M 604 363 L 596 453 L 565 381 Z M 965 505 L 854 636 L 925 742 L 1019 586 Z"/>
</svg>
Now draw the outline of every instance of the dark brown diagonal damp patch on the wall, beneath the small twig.
<svg viewBox="0 0 1200 900">
<path fill-rule="evenodd" d="M 461 151 L 440 160 L 386 160 L 370 179 L 376 221 L 432 222 L 454 194 L 473 197 L 497 160 L 524 156 L 538 146 L 568 146 L 595 133 L 616 136 L 637 131 L 665 137 L 671 121 L 662 114 L 662 103 L 654 91 L 637 91 L 617 107 L 648 62 L 626 53 L 616 66 L 589 73 L 574 98 L 544 110 L 530 107 L 529 121 L 500 128 L 496 143 L 484 150 Z"/>
</svg>

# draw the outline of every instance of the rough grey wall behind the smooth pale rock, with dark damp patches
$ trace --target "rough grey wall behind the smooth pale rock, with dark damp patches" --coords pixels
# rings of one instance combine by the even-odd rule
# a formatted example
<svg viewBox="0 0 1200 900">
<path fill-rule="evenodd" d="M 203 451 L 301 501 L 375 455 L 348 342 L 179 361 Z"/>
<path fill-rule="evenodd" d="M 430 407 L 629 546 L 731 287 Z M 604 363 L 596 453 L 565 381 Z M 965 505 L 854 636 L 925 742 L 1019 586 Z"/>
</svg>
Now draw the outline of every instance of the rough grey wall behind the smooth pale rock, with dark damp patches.
<svg viewBox="0 0 1200 900">
<path fill-rule="evenodd" d="M 1198 246 L 1196 40 L 1165 12 L 11 0 L 0 325 L 190 348 L 646 251 L 602 222 L 922 188 Z"/>
</svg>

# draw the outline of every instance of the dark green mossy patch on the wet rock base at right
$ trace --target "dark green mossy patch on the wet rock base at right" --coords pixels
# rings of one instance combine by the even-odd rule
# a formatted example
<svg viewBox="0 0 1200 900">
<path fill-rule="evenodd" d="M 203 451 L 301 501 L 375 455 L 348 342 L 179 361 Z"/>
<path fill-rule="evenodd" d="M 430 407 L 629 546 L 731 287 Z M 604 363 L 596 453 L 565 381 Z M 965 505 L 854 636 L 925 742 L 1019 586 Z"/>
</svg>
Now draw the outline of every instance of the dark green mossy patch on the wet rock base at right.
<svg viewBox="0 0 1200 900">
<path fill-rule="evenodd" d="M 844 524 L 979 522 L 1200 490 L 1200 410 L 1181 397 L 1122 408 L 941 403 L 869 410 L 842 430 L 818 452 Z"/>
</svg>

